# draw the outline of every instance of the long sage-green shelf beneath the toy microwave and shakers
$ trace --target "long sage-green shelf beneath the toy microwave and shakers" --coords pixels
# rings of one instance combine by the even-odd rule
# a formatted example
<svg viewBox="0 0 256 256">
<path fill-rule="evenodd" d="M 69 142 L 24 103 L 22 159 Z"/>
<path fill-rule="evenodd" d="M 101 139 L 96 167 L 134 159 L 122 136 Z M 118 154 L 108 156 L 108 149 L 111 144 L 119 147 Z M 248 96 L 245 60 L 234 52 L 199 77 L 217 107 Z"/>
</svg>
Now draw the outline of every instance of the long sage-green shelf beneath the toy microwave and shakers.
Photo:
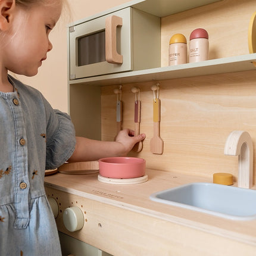
<svg viewBox="0 0 256 256">
<path fill-rule="evenodd" d="M 160 81 L 182 77 L 205 76 L 210 74 L 248 71 L 256 69 L 252 62 L 256 62 L 256 54 L 220 58 L 216 60 L 202 61 L 199 63 L 187 63 L 171 67 L 151 68 L 148 70 L 130 71 L 125 73 L 88 77 L 85 79 L 71 80 L 70 85 L 119 85 L 126 83 Z"/>
</svg>

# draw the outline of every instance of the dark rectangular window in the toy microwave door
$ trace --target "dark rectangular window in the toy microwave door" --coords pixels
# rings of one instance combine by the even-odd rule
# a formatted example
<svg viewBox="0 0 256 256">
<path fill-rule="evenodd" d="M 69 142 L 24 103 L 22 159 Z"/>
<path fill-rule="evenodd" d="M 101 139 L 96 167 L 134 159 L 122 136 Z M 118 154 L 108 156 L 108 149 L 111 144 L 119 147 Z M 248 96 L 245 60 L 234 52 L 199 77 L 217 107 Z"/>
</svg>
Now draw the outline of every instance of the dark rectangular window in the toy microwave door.
<svg viewBox="0 0 256 256">
<path fill-rule="evenodd" d="M 78 39 L 78 65 L 89 65 L 106 61 L 105 30 Z"/>
</svg>

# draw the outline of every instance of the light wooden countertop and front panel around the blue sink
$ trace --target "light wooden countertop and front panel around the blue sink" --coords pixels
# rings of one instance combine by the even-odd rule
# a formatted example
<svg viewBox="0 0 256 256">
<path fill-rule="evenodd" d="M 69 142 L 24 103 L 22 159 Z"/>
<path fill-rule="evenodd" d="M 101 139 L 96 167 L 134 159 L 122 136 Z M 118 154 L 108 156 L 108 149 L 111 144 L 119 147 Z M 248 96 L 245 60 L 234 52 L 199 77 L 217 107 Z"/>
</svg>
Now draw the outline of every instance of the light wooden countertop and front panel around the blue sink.
<svg viewBox="0 0 256 256">
<path fill-rule="evenodd" d="M 58 204 L 58 230 L 113 255 L 255 254 L 256 220 L 227 220 L 149 199 L 152 192 L 212 179 L 152 169 L 146 174 L 148 181 L 139 185 L 102 183 L 97 173 L 45 177 L 46 193 Z M 82 212 L 82 229 L 64 226 L 68 207 Z"/>
</svg>

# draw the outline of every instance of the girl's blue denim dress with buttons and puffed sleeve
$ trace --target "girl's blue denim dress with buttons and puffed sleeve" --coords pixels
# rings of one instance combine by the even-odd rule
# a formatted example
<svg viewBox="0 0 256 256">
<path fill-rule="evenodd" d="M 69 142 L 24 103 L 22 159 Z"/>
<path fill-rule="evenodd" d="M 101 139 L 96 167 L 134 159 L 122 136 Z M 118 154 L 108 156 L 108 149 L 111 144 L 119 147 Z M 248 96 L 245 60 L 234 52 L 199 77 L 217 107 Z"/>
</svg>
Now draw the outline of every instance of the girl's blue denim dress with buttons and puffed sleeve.
<svg viewBox="0 0 256 256">
<path fill-rule="evenodd" d="M 15 92 L 0 92 L 0 255 L 61 255 L 43 179 L 73 154 L 74 127 L 38 90 L 8 79 Z"/>
</svg>

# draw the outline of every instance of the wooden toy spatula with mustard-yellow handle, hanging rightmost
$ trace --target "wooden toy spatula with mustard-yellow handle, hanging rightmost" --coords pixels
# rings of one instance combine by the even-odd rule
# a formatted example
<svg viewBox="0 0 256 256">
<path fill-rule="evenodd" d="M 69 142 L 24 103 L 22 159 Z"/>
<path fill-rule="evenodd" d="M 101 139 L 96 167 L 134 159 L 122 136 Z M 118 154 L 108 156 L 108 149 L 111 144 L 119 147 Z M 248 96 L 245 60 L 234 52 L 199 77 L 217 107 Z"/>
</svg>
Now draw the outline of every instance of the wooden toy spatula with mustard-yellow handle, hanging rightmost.
<svg viewBox="0 0 256 256">
<path fill-rule="evenodd" d="M 163 154 L 164 142 L 160 138 L 160 99 L 153 101 L 154 136 L 150 141 L 150 149 L 153 154 Z"/>
</svg>

